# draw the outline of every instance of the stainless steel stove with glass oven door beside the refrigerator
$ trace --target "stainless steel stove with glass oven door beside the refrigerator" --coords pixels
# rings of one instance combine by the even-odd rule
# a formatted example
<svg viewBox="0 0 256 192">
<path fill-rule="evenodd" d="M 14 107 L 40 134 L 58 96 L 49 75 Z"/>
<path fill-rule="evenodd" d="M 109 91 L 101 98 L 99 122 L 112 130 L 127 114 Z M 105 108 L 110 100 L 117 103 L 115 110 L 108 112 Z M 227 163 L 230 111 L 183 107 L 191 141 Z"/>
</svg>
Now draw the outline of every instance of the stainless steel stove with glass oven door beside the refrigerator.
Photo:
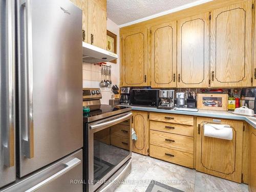
<svg viewBox="0 0 256 192">
<path fill-rule="evenodd" d="M 132 108 L 100 104 L 99 89 L 83 89 L 84 189 L 83 191 L 114 191 L 113 181 L 123 180 L 131 173 Z"/>
</svg>

